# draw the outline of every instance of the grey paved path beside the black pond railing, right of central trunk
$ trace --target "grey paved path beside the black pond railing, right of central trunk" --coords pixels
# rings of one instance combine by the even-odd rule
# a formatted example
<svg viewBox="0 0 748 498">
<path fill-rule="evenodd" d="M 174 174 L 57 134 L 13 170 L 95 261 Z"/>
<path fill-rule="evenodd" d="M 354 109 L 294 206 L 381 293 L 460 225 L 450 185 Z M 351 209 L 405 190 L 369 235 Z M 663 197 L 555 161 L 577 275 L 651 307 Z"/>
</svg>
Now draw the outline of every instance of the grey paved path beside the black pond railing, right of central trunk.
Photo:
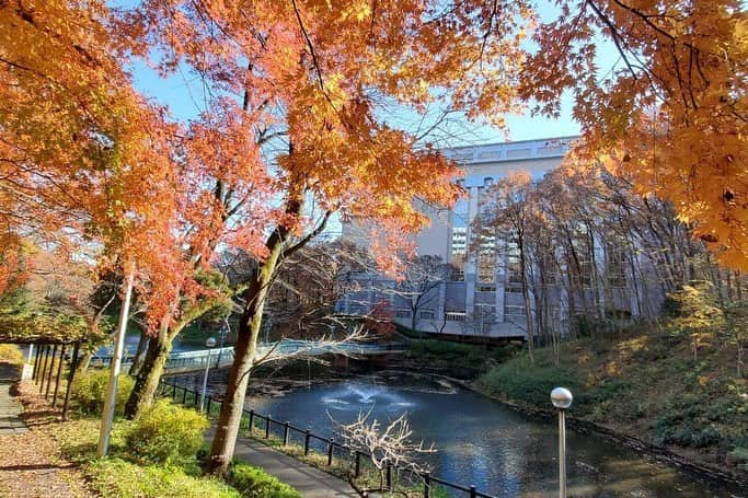
<svg viewBox="0 0 748 498">
<path fill-rule="evenodd" d="M 239 439 L 234 458 L 294 486 L 304 498 L 358 497 L 350 485 L 257 441 Z"/>
</svg>

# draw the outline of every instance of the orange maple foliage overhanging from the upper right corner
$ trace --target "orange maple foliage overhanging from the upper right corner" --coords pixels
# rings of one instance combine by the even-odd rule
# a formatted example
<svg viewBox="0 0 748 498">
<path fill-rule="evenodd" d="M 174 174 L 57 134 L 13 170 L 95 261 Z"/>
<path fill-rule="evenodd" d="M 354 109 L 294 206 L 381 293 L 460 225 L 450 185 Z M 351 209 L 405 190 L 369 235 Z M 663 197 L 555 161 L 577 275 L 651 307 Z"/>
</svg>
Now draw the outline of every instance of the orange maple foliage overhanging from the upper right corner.
<svg viewBox="0 0 748 498">
<path fill-rule="evenodd" d="M 575 96 L 569 161 L 602 161 L 670 201 L 718 259 L 748 269 L 748 12 L 737 0 L 575 0 L 537 27 L 520 93 L 557 115 Z M 619 62 L 596 66 L 599 40 Z"/>
</svg>

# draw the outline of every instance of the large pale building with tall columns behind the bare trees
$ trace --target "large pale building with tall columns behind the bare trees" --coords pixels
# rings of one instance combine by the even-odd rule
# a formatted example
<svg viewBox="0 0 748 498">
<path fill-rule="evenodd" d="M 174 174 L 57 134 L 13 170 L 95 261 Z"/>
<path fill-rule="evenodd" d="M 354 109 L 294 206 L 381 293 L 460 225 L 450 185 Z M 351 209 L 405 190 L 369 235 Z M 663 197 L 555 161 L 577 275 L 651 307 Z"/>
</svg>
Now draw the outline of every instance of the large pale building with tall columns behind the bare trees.
<svg viewBox="0 0 748 498">
<path fill-rule="evenodd" d="M 460 181 L 467 196 L 451 210 L 426 208 L 429 228 L 415 238 L 419 256 L 438 256 L 450 265 L 442 276 L 421 289 L 417 306 L 414 296 L 399 292 L 398 286 L 380 275 L 359 273 L 357 290 L 346 292 L 338 303 L 341 312 L 366 314 L 375 303 L 387 301 L 394 321 L 405 327 L 446 336 L 483 338 L 526 338 L 527 319 L 521 277 L 517 275 L 516 254 L 506 241 L 488 241 L 486 251 L 469 254 L 471 223 L 480 212 L 485 189 L 510 173 L 528 173 L 540 181 L 560 166 L 576 137 L 517 141 L 444 150 L 464 169 Z M 368 231 L 356 223 L 344 223 L 343 236 L 368 247 Z M 556 289 L 555 298 L 563 290 Z M 621 308 L 621 306 L 619 306 Z M 628 305 L 623 305 L 628 308 Z M 414 316 L 415 313 L 415 316 Z M 561 313 L 560 313 L 561 315 Z"/>
</svg>

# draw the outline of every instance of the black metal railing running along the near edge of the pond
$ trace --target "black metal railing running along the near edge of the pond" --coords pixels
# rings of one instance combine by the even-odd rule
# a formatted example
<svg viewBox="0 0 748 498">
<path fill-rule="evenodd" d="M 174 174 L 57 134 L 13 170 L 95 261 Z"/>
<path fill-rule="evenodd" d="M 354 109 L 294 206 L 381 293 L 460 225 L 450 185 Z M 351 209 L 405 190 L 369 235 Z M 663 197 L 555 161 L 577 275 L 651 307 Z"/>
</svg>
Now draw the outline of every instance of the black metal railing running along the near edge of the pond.
<svg viewBox="0 0 748 498">
<path fill-rule="evenodd" d="M 166 382 L 163 379 L 161 380 L 160 394 L 162 396 L 169 396 L 173 402 L 181 403 L 186 407 L 199 408 L 200 406 L 200 394 L 197 391 Z M 204 408 L 207 416 L 210 417 L 214 412 L 219 412 L 220 404 L 221 402 L 219 399 L 209 395 L 206 396 Z M 257 414 L 253 409 L 243 410 L 242 420 L 240 422 L 240 430 L 242 429 L 250 435 L 256 433 L 264 439 L 277 437 L 280 444 L 284 447 L 297 443 L 299 448 L 302 449 L 301 451 L 304 456 L 309 456 L 310 454 L 321 455 L 325 459 L 324 464 L 327 466 L 333 466 L 337 459 L 338 464 L 343 463 L 348 468 L 352 468 L 356 477 L 361 475 L 364 465 L 367 463 L 365 461 L 368 460 L 368 463 L 371 462 L 371 455 L 369 453 L 353 450 L 352 448 L 335 441 L 333 438 L 324 438 L 313 433 L 309 429 L 296 427 L 288 421 L 275 420 L 271 415 Z M 394 480 L 393 475 L 395 476 Z M 398 476 L 400 475 L 407 476 L 406 482 L 412 487 L 416 485 L 423 486 L 424 498 L 434 498 L 435 495 L 444 495 L 445 491 L 450 496 L 454 496 L 453 491 L 459 491 L 459 496 L 469 496 L 471 498 L 496 498 L 493 495 L 479 491 L 475 486 L 464 486 L 452 483 L 433 476 L 428 472 L 415 475 L 407 468 L 392 466 L 384 470 L 384 487 L 387 489 L 392 489 L 393 484 L 396 483 Z M 437 490 L 441 493 L 438 493 Z"/>
</svg>

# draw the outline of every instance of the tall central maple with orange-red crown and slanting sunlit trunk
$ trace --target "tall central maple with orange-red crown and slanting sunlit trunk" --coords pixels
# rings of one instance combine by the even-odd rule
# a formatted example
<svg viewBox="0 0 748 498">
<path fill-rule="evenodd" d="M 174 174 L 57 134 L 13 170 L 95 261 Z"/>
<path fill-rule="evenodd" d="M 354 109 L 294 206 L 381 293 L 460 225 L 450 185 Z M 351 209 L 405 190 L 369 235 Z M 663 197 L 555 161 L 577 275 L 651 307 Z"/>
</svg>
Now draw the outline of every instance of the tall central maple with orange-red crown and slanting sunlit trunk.
<svg viewBox="0 0 748 498">
<path fill-rule="evenodd" d="M 383 105 L 425 113 L 445 100 L 493 116 L 513 108 L 522 39 L 515 27 L 526 5 L 502 3 L 146 1 L 125 14 L 143 47 L 160 48 L 161 69 L 187 65 L 217 94 L 234 95 L 225 100 L 229 116 L 256 147 L 214 151 L 233 175 L 272 172 L 279 199 L 262 230 L 234 241 L 260 263 L 243 293 L 211 471 L 231 461 L 263 309 L 285 258 L 334 212 L 371 220 L 387 240 L 424 225 L 416 198 L 445 205 L 458 195 L 454 165 L 388 126 Z M 218 139 L 215 128 L 206 134 Z"/>
</svg>

